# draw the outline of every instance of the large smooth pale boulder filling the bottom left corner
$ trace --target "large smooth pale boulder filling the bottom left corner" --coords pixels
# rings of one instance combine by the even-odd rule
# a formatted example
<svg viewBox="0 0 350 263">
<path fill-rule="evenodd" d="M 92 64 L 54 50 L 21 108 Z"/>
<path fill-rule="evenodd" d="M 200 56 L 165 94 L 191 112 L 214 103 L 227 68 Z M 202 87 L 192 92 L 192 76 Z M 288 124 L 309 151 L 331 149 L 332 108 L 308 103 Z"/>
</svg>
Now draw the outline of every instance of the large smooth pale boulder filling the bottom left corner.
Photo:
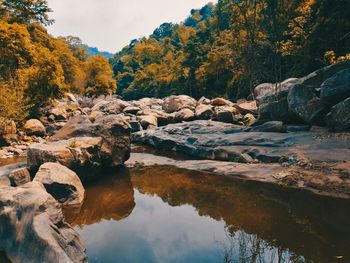
<svg viewBox="0 0 350 263">
<path fill-rule="evenodd" d="M 11 262 L 87 262 L 59 203 L 37 182 L 0 186 L 0 251 Z"/>
</svg>

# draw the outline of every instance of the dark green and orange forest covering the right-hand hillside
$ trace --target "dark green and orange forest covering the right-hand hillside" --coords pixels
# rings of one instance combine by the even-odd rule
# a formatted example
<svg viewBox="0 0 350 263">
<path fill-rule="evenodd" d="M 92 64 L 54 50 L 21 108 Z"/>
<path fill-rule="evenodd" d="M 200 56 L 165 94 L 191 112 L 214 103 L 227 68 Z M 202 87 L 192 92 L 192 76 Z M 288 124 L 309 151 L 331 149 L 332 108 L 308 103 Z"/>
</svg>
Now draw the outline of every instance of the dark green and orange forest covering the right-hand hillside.
<svg viewBox="0 0 350 263">
<path fill-rule="evenodd" d="M 249 97 L 257 84 L 349 59 L 349 18 L 348 0 L 219 0 L 117 53 L 117 93 Z"/>
</svg>

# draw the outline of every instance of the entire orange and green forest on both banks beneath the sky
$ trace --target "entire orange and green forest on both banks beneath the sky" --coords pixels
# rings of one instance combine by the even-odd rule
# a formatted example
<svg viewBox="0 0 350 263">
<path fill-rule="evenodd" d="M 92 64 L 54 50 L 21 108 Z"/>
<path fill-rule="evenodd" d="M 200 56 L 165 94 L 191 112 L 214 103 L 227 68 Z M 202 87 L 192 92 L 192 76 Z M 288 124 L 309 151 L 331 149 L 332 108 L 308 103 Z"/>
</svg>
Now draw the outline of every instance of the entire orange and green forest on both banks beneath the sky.
<svg viewBox="0 0 350 263">
<path fill-rule="evenodd" d="M 21 122 L 65 92 L 249 98 L 262 82 L 350 58 L 348 0 L 219 0 L 110 64 L 77 37 L 49 35 L 49 12 L 46 0 L 0 0 L 0 116 Z"/>
</svg>

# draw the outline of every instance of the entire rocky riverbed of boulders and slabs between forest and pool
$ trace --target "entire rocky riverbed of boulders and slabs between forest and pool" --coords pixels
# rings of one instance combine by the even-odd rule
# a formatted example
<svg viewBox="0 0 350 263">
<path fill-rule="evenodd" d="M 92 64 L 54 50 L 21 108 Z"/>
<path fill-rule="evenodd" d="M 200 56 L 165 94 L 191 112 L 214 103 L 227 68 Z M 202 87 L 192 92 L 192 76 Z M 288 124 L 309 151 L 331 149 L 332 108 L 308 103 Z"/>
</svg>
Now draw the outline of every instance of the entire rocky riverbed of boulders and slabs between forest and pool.
<svg viewBox="0 0 350 263">
<path fill-rule="evenodd" d="M 0 251 L 16 262 L 38 242 L 45 249 L 38 246 L 27 262 L 86 261 L 61 207 L 82 205 L 86 185 L 125 163 L 176 166 L 349 199 L 349 79 L 350 62 L 344 62 L 259 85 L 251 101 L 67 94 L 23 127 L 0 118 L 0 164 L 26 158 L 0 170 L 0 234 L 8 237 Z M 131 143 L 182 158 L 155 158 L 149 151 L 130 158 Z"/>
</svg>

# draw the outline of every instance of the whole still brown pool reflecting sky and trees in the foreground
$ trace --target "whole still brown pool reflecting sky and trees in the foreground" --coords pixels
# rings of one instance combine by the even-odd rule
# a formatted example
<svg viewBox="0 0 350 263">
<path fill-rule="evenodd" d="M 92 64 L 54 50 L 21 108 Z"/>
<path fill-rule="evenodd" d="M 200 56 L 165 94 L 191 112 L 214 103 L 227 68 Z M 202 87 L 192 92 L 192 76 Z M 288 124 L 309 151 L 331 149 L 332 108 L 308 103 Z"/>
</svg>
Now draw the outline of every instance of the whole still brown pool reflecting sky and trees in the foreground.
<svg viewBox="0 0 350 263">
<path fill-rule="evenodd" d="M 132 168 L 65 211 L 90 262 L 350 262 L 350 203 L 174 167 Z"/>
</svg>

